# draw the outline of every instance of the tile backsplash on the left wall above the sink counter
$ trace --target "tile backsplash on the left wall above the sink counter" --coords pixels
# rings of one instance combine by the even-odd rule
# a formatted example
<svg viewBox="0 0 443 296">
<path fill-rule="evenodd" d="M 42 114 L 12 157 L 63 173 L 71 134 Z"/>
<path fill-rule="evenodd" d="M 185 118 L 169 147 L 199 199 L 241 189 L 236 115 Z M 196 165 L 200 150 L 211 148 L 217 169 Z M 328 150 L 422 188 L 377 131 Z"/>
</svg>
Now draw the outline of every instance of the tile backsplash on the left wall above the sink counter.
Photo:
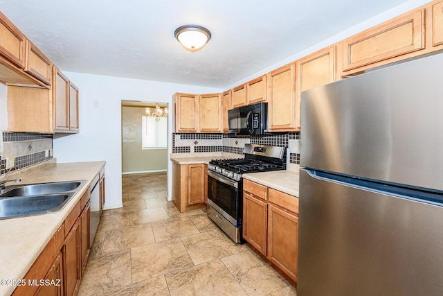
<svg viewBox="0 0 443 296">
<path fill-rule="evenodd" d="M 10 157 L 14 157 L 15 166 L 18 168 L 33 166 L 53 158 L 52 134 L 2 132 L 1 137 L 3 137 L 3 153 L 0 159 L 0 175 L 8 171 L 6 164 Z"/>
</svg>

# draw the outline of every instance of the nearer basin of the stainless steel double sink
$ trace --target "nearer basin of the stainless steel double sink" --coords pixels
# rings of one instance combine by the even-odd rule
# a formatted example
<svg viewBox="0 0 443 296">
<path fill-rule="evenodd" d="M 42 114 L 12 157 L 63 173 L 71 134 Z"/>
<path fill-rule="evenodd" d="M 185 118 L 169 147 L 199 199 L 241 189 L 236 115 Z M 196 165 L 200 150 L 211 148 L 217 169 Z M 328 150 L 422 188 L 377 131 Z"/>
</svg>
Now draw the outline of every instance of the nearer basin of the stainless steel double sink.
<svg viewBox="0 0 443 296">
<path fill-rule="evenodd" d="M 69 194 L 48 194 L 0 199 L 0 218 L 14 218 L 60 211 L 73 196 Z"/>
</svg>

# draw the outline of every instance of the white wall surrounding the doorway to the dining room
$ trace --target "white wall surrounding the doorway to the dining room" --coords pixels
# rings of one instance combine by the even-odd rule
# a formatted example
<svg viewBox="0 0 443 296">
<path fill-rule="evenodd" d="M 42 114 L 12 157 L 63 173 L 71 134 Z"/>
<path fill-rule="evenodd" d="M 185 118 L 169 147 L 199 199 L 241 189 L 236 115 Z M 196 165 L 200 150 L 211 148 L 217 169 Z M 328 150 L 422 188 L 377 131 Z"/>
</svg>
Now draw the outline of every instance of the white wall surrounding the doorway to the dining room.
<svg viewBox="0 0 443 296">
<path fill-rule="evenodd" d="M 177 85 L 165 82 L 98 76 L 84 73 L 64 74 L 80 89 L 80 133 L 54 139 L 57 162 L 106 161 L 105 209 L 122 207 L 122 142 L 121 101 L 156 101 L 168 103 L 168 146 L 172 146 L 175 92 L 208 94 L 221 89 Z M 98 107 L 93 107 L 98 101 Z M 172 164 L 168 162 L 168 171 Z M 172 176 L 168 173 L 168 196 L 171 196 Z"/>
</svg>

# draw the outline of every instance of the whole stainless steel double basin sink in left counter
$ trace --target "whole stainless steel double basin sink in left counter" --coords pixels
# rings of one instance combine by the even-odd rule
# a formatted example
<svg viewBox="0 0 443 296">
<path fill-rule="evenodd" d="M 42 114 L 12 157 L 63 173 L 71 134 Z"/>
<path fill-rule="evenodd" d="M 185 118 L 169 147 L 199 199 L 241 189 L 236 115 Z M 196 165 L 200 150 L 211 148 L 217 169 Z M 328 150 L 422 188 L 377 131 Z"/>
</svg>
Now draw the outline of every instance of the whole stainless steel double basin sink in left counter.
<svg viewBox="0 0 443 296">
<path fill-rule="evenodd" d="M 51 214 L 63 209 L 86 180 L 6 186 L 0 219 Z"/>
</svg>

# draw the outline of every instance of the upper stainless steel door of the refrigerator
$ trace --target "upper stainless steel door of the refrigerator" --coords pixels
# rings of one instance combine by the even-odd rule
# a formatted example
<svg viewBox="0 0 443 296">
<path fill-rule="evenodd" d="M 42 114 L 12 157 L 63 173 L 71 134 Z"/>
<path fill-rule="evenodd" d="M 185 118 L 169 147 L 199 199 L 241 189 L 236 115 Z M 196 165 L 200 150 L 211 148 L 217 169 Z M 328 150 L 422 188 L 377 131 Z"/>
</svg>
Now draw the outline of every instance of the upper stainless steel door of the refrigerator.
<svg viewBox="0 0 443 296">
<path fill-rule="evenodd" d="M 443 54 L 302 92 L 300 166 L 443 190 Z"/>
</svg>

